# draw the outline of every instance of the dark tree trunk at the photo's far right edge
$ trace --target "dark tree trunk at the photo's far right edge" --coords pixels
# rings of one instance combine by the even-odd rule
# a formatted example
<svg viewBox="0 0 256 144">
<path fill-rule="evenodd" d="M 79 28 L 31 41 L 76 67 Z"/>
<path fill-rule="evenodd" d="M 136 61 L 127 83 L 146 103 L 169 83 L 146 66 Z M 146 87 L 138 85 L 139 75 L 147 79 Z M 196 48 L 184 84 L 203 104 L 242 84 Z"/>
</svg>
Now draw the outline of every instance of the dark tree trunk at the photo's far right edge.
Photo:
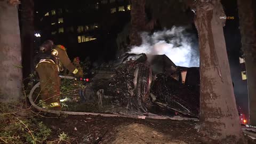
<svg viewBox="0 0 256 144">
<path fill-rule="evenodd" d="M 245 67 L 249 99 L 249 123 L 256 126 L 256 28 L 252 0 L 237 0 L 242 50 L 244 51 Z"/>
</svg>

